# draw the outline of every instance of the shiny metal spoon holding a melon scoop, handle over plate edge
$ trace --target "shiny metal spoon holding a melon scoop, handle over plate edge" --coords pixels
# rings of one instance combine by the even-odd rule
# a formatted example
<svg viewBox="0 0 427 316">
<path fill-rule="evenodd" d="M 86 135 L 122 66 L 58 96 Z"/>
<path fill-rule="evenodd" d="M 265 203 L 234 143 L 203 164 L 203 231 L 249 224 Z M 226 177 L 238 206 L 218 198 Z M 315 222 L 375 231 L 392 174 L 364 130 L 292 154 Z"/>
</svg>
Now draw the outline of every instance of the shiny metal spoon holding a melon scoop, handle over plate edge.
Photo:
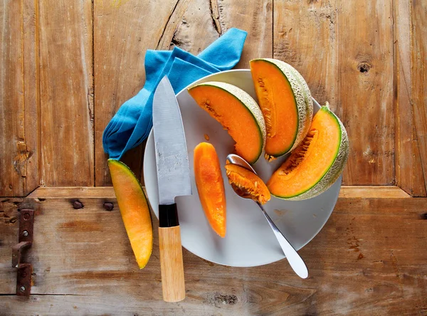
<svg viewBox="0 0 427 316">
<path fill-rule="evenodd" d="M 248 162 L 246 162 L 245 159 L 238 156 L 237 154 L 229 154 L 227 156 L 227 161 L 231 164 L 237 164 L 238 166 L 246 168 L 249 171 L 256 174 L 255 170 L 251 167 L 251 165 L 248 164 Z M 248 192 L 243 191 L 241 188 L 238 188 L 236 185 L 231 184 L 231 187 L 236 192 L 236 194 L 241 198 L 252 199 L 251 194 L 248 194 Z M 295 251 L 295 249 L 292 247 L 289 241 L 285 238 L 285 236 L 283 236 L 283 233 L 279 231 L 279 228 L 275 226 L 275 223 L 273 223 L 270 216 L 268 216 L 262 204 L 260 204 L 257 201 L 254 201 L 254 202 L 258 204 L 258 206 L 260 206 L 260 209 L 261 211 L 263 211 L 265 218 L 267 218 L 267 221 L 270 224 L 271 229 L 273 229 L 275 237 L 278 239 L 280 247 L 282 248 L 283 253 L 285 253 L 286 258 L 288 258 L 288 262 L 292 267 L 292 269 L 295 271 L 295 273 L 297 273 L 298 276 L 300 276 L 300 278 L 303 278 L 303 279 L 307 278 L 308 277 L 307 266 L 305 265 L 300 255 L 297 253 L 297 251 Z"/>
</svg>

